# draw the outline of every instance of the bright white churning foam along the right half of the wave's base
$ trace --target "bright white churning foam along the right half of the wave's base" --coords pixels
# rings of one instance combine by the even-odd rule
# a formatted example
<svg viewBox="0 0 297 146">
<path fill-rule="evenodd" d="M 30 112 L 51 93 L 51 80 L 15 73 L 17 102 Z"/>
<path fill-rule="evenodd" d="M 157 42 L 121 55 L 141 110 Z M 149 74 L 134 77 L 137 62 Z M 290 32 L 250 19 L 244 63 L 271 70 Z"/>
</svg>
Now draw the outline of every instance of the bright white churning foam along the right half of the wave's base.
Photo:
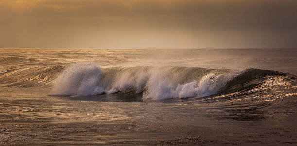
<svg viewBox="0 0 297 146">
<path fill-rule="evenodd" d="M 143 98 L 161 100 L 168 98 L 205 97 L 218 93 L 235 76 L 235 73 L 207 74 L 200 81 L 178 84 L 165 80 L 150 80 Z"/>
</svg>

